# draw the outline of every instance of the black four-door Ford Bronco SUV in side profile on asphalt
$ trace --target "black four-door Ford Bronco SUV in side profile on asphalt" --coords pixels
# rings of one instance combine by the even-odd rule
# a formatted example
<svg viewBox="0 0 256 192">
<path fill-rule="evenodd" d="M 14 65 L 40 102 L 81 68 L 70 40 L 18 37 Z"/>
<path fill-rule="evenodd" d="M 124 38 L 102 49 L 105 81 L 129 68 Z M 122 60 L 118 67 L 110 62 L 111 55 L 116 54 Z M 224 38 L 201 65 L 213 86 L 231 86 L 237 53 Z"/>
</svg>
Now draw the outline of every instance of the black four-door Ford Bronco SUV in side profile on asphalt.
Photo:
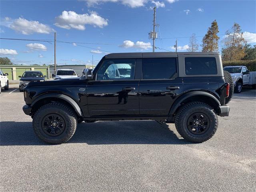
<svg viewBox="0 0 256 192">
<path fill-rule="evenodd" d="M 50 144 L 68 141 L 82 121 L 109 120 L 175 123 L 184 139 L 204 142 L 217 115 L 229 114 L 232 82 L 218 53 L 114 53 L 80 78 L 30 82 L 23 111 Z"/>
</svg>

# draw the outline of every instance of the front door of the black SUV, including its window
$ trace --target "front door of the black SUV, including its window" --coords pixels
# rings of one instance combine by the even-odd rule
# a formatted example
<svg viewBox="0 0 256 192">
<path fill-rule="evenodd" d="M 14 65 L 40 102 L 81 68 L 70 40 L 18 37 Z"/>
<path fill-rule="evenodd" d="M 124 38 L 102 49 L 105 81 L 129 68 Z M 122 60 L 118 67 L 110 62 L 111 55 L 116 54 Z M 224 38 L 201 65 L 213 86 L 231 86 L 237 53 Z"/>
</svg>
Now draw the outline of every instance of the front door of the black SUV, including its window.
<svg viewBox="0 0 256 192">
<path fill-rule="evenodd" d="M 95 116 L 139 114 L 139 80 L 135 77 L 136 59 L 106 59 L 87 84 L 88 111 Z"/>
</svg>

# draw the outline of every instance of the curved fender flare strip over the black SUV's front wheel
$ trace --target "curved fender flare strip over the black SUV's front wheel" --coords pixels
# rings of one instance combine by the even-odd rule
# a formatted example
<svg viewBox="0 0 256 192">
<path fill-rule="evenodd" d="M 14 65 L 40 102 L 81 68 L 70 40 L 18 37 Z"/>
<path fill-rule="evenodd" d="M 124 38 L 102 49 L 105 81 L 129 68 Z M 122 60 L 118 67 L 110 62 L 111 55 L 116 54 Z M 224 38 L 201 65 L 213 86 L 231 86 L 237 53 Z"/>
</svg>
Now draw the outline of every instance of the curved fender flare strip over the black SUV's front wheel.
<svg viewBox="0 0 256 192">
<path fill-rule="evenodd" d="M 78 104 L 72 98 L 70 98 L 69 96 L 64 95 L 64 94 L 59 94 L 59 93 L 51 93 L 51 94 L 45 94 L 45 95 L 39 96 L 38 98 L 36 98 L 36 100 L 34 100 L 32 102 L 32 104 L 30 106 L 33 107 L 33 105 L 36 104 L 36 102 L 38 102 L 39 100 L 45 99 L 45 98 L 60 98 L 60 99 L 63 99 L 66 102 L 68 102 L 74 108 L 74 110 L 76 111 L 76 113 L 79 116 L 82 116 L 82 111 L 81 111 L 81 108 L 78 106 Z"/>
</svg>

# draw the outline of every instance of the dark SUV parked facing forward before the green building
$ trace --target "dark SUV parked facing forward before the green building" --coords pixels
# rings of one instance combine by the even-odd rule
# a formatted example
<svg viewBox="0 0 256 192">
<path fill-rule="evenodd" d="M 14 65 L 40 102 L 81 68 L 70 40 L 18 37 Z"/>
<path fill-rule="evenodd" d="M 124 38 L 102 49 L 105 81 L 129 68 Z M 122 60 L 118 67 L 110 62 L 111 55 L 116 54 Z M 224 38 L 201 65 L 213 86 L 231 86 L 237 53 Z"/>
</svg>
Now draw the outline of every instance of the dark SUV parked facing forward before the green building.
<svg viewBox="0 0 256 192">
<path fill-rule="evenodd" d="M 22 92 L 31 81 L 45 81 L 46 75 L 40 71 L 25 71 L 19 78 L 19 90 Z"/>
</svg>

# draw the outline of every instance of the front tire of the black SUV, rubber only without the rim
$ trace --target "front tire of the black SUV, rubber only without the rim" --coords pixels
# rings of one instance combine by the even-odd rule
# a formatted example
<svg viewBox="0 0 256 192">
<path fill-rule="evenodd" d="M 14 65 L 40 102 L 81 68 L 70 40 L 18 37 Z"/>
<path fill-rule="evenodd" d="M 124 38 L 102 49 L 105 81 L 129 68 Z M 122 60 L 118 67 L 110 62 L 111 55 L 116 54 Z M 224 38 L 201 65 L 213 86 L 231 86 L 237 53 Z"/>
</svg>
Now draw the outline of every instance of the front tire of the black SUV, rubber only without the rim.
<svg viewBox="0 0 256 192">
<path fill-rule="evenodd" d="M 49 136 L 43 130 L 43 119 L 49 114 L 57 114 L 65 123 L 64 131 L 58 136 Z M 62 144 L 70 140 L 77 127 L 77 116 L 72 108 L 60 102 L 52 102 L 40 107 L 33 117 L 33 128 L 35 134 L 48 144 Z"/>
</svg>

